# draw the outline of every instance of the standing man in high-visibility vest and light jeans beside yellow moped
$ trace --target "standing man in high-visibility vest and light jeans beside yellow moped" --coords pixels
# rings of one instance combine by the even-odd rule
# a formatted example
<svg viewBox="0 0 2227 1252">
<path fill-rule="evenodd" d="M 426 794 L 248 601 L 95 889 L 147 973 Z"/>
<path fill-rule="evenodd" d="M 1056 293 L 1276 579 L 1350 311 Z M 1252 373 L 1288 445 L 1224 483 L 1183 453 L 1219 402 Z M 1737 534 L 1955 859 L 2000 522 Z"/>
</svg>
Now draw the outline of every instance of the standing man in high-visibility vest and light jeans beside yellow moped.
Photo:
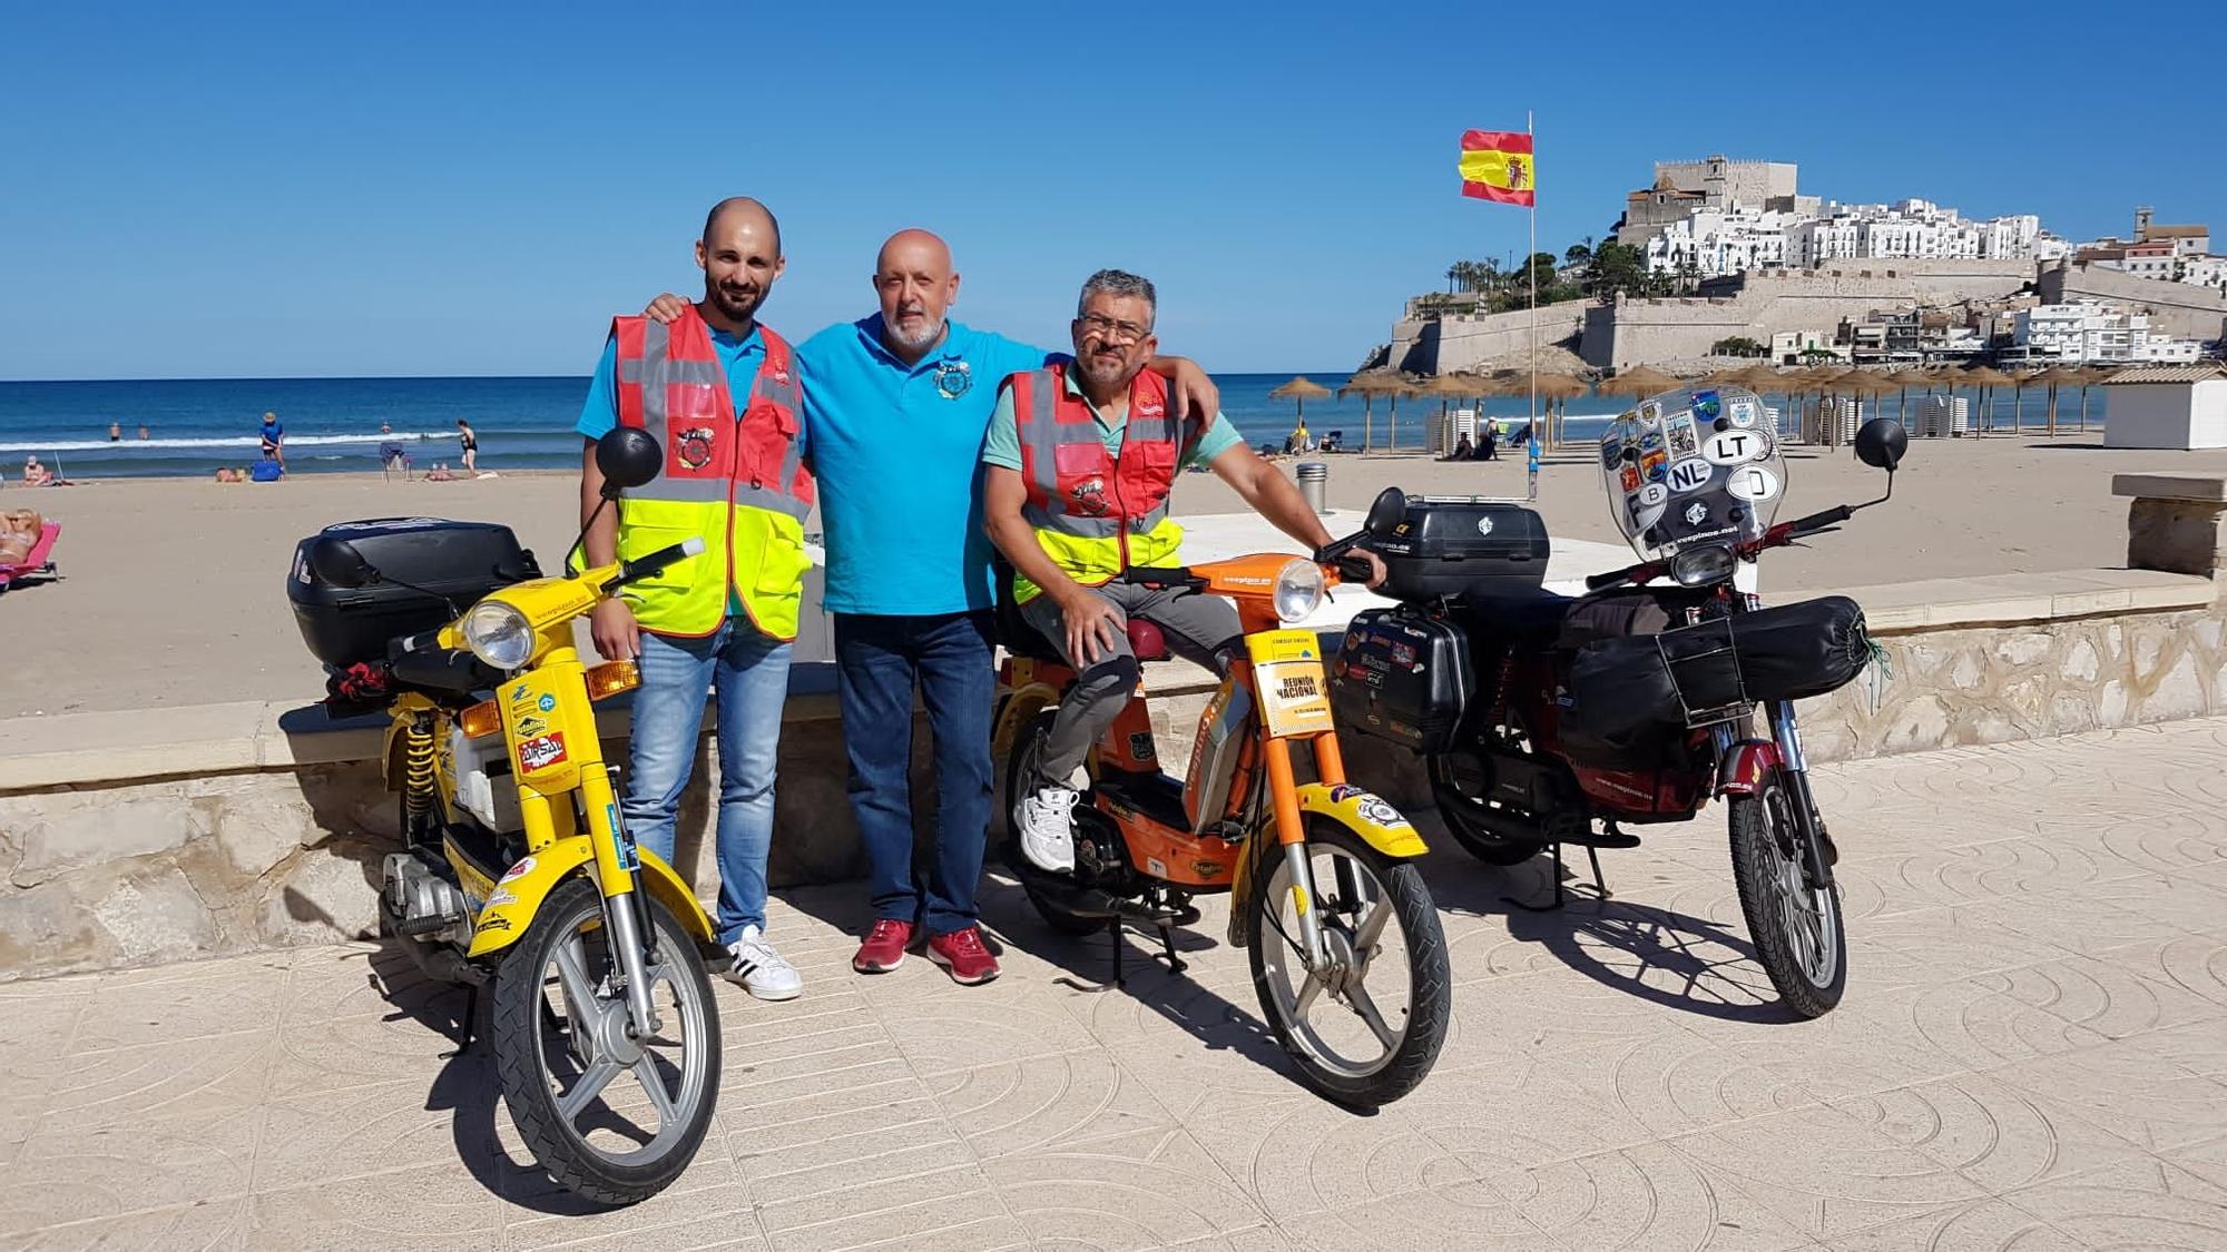
<svg viewBox="0 0 2227 1252">
<path fill-rule="evenodd" d="M 750 198 L 713 207 L 697 241 L 704 299 L 670 325 L 621 316 L 588 388 L 579 508 L 601 499 L 595 441 L 615 426 L 657 437 L 664 468 L 604 510 L 586 561 L 639 557 L 688 537 L 704 552 L 597 606 L 595 646 L 641 666 L 621 811 L 641 847 L 673 860 L 673 824 L 719 702 L 719 942 L 724 971 L 759 1000 L 804 989 L 766 942 L 773 766 L 788 700 L 788 644 L 804 601 L 804 394 L 788 343 L 757 312 L 782 276 L 782 227 Z"/>
</svg>

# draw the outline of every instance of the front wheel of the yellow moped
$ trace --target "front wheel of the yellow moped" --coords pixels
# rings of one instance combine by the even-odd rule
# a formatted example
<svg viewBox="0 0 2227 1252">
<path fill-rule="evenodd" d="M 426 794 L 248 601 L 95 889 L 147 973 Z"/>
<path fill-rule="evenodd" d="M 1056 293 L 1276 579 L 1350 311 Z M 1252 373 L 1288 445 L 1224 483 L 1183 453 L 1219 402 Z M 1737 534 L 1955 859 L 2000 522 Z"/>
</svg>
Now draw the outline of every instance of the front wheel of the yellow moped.
<svg viewBox="0 0 2227 1252">
<path fill-rule="evenodd" d="M 494 980 L 503 1103 L 552 1178 L 610 1205 L 655 1196 L 695 1158 L 719 1089 L 719 1009 L 695 942 L 650 902 L 657 1034 L 626 1034 L 626 994 L 586 878 L 550 893 Z"/>
</svg>

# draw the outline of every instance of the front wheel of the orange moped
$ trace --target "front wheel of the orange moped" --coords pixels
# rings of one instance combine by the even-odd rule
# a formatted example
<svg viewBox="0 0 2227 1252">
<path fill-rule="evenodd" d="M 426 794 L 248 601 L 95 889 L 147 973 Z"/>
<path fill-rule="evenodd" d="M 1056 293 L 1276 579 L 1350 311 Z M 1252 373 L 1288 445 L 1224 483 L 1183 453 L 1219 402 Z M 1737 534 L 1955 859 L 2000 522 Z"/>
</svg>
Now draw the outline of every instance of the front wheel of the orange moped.
<svg viewBox="0 0 2227 1252">
<path fill-rule="evenodd" d="M 1381 931 L 1396 925 L 1403 949 L 1401 965 L 1407 978 L 1407 1002 L 1396 1011 L 1385 1011 L 1374 1005 L 1374 994 L 1385 987 L 1372 987 L 1367 969 L 1363 969 L 1361 982 L 1370 991 L 1370 1009 L 1376 1014 L 1374 1023 L 1361 1014 L 1352 998 L 1332 996 L 1323 989 L 1314 994 L 1309 1011 L 1309 1007 L 1298 1007 L 1296 1002 L 1303 985 L 1309 985 L 1312 978 L 1298 958 L 1296 916 L 1287 909 L 1292 893 L 1283 860 L 1285 853 L 1267 831 L 1254 838 L 1267 840 L 1258 853 L 1265 860 L 1256 867 L 1254 891 L 1243 907 L 1252 913 L 1249 958 L 1263 1018 L 1276 1031 L 1276 1040 L 1283 1043 L 1285 1054 L 1309 1087 L 1343 1105 L 1363 1109 L 1390 1105 L 1412 1092 L 1439 1060 L 1439 1047 L 1445 1043 L 1445 1023 L 1452 1016 L 1454 1002 L 1454 980 L 1445 958 L 1445 931 L 1439 927 L 1439 909 L 1430 900 L 1423 873 L 1414 862 L 1387 858 L 1336 822 L 1323 818 L 1307 820 L 1309 862 L 1316 871 L 1316 916 L 1325 920 L 1325 945 L 1332 942 L 1330 931 L 1336 931 L 1338 947 L 1350 949 L 1347 940 L 1367 929 L 1367 918 L 1374 916 L 1372 909 L 1363 907 L 1370 902 L 1367 898 L 1374 898 L 1379 909 L 1390 909 L 1390 916 L 1376 927 L 1379 938 L 1370 942 L 1370 962 L 1383 953 L 1385 940 Z M 1338 860 L 1352 862 L 1365 900 L 1343 900 L 1343 889 L 1334 880 L 1325 882 L 1321 878 L 1325 867 L 1332 867 L 1332 878 L 1336 878 Z M 1332 1020 L 1316 1023 L 1314 1014 L 1325 1014 Z M 1341 1014 L 1365 1023 L 1379 1047 L 1387 1047 L 1383 1036 L 1390 1034 L 1394 1018 L 1399 1018 L 1396 1038 L 1374 1060 L 1350 1060 L 1341 1043 L 1358 1036 Z M 1345 1025 L 1347 1029 L 1338 1031 L 1338 1040 L 1332 1040 L 1323 1029 L 1325 1025 Z"/>
</svg>

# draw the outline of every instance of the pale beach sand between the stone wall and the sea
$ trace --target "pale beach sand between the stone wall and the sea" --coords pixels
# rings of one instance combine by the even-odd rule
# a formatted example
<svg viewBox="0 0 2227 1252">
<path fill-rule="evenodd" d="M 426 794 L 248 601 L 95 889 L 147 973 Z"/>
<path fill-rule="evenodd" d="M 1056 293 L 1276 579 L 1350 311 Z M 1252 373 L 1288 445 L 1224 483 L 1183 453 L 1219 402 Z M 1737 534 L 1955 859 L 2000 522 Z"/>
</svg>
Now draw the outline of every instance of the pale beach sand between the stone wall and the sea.
<svg viewBox="0 0 2227 1252">
<path fill-rule="evenodd" d="M 1439 463 L 1334 454 L 1330 503 L 1367 508 L 1385 486 L 1521 495 L 1523 459 Z M 1289 461 L 1287 461 L 1289 466 Z M 1539 510 L 1557 535 L 1619 544 L 1588 448 L 1548 457 Z M 1782 519 L 1871 499 L 1884 477 L 1846 450 L 1793 450 Z M 1926 577 L 2120 566 L 2127 501 L 2113 472 L 2227 472 L 2227 452 L 2127 452 L 2087 441 L 1915 441 L 1895 499 L 1815 548 L 1773 552 L 1766 595 Z M 461 517 L 512 526 L 543 568 L 572 541 L 579 481 L 563 472 L 425 483 L 303 475 L 281 483 L 111 479 L 0 490 L 62 524 L 65 581 L 0 595 L 0 717 L 229 700 L 314 702 L 323 673 L 285 599 L 294 544 L 332 521 Z M 1218 479 L 1185 475 L 1176 515 L 1234 512 Z M 902 559 L 895 555 L 893 559 Z"/>
</svg>

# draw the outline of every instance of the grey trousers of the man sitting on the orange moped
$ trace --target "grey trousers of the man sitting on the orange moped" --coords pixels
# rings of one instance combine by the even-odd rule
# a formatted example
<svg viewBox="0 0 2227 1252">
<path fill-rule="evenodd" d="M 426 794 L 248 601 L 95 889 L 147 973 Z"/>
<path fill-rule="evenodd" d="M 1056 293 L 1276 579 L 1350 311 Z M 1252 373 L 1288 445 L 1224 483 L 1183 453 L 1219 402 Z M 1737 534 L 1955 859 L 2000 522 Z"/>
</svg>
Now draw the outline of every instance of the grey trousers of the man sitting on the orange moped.
<svg viewBox="0 0 2227 1252">
<path fill-rule="evenodd" d="M 1216 673 L 1227 671 L 1227 657 L 1245 635 L 1238 628 L 1238 606 L 1218 595 L 1198 595 L 1187 588 L 1147 588 L 1125 581 L 1093 586 L 1091 595 L 1114 604 L 1122 619 L 1151 622 L 1167 635 L 1167 646 L 1191 662 Z M 1051 717 L 1051 742 L 1038 762 L 1033 786 L 1082 786 L 1082 760 L 1091 755 L 1091 744 L 1120 717 L 1129 695 L 1136 691 L 1136 653 L 1127 635 L 1116 635 L 1114 651 L 1100 653 L 1089 668 L 1067 655 L 1067 622 L 1049 595 L 1038 595 L 1020 606 L 1020 615 L 1036 626 L 1051 646 L 1076 668 L 1076 686 L 1060 697 L 1060 711 Z"/>
</svg>

